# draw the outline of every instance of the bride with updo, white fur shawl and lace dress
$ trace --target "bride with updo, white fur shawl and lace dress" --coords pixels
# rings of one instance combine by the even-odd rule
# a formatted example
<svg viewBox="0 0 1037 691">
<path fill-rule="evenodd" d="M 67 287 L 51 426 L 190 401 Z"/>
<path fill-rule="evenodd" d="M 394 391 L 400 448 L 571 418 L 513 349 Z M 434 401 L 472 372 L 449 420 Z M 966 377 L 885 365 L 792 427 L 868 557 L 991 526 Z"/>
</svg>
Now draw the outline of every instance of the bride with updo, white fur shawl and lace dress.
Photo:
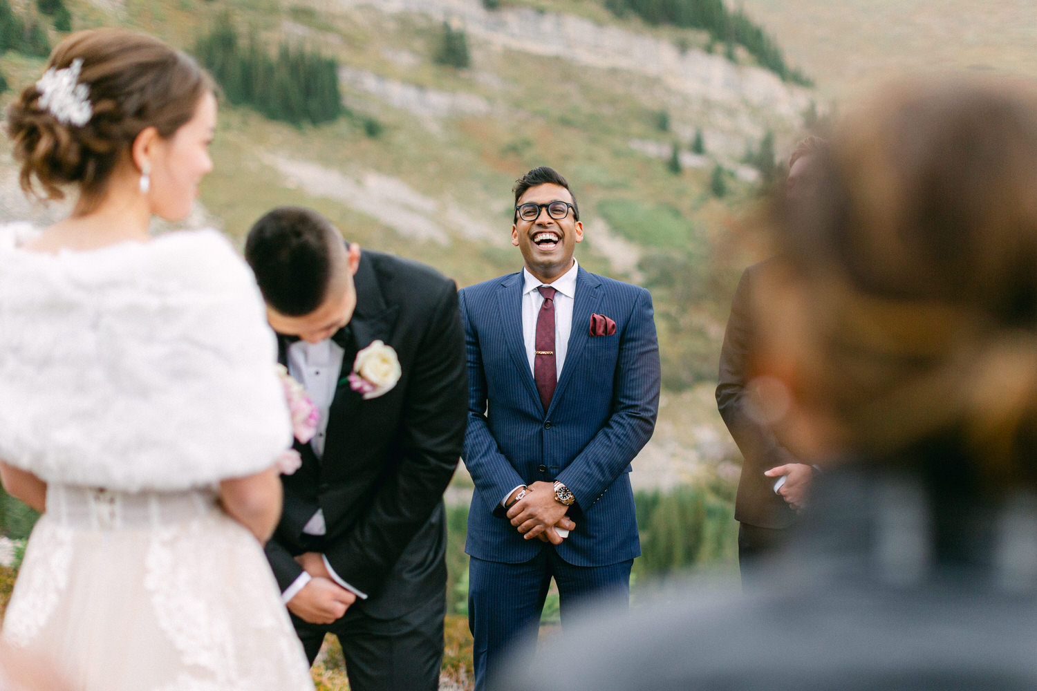
<svg viewBox="0 0 1037 691">
<path fill-rule="evenodd" d="M 9 108 L 49 228 L 0 226 L 0 478 L 43 512 L 3 643 L 79 690 L 311 690 L 262 543 L 291 439 L 254 278 L 222 234 L 158 237 L 213 168 L 186 54 L 74 33 Z"/>
</svg>

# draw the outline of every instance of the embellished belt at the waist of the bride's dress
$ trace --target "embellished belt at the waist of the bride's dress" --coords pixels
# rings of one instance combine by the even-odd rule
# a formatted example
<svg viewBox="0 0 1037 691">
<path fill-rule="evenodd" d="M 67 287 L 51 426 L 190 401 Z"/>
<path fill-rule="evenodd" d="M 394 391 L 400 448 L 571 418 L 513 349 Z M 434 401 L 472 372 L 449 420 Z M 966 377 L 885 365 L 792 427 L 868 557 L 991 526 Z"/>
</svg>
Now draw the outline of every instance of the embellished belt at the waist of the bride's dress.
<svg viewBox="0 0 1037 691">
<path fill-rule="evenodd" d="M 47 515 L 68 527 L 158 527 L 203 516 L 216 508 L 216 491 L 207 489 L 120 492 L 101 487 L 47 486 Z"/>
</svg>

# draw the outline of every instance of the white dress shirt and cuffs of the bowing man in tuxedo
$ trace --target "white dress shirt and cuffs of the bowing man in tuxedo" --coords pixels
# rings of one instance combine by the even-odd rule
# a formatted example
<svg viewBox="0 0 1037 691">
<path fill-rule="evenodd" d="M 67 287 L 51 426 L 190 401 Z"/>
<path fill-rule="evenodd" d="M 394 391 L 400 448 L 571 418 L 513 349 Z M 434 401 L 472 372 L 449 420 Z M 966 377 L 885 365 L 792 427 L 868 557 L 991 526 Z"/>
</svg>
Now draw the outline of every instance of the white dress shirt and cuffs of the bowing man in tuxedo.
<svg viewBox="0 0 1037 691">
<path fill-rule="evenodd" d="M 344 355 L 345 350 L 342 349 L 342 346 L 331 339 L 325 339 L 317 343 L 300 340 L 288 346 L 288 374 L 303 384 L 320 415 L 317 420 L 317 432 L 310 439 L 310 448 L 313 449 L 317 458 L 324 456 L 325 439 L 328 432 L 328 413 L 331 410 L 331 403 L 335 399 L 335 390 L 338 387 L 338 375 L 342 369 Z M 303 532 L 325 535 L 327 531 L 324 511 L 317 509 L 316 513 L 303 526 Z M 356 594 L 358 598 L 367 599 L 365 594 L 339 578 L 335 570 L 331 568 L 331 564 L 328 563 L 328 557 L 321 556 L 328 573 L 331 574 L 335 582 Z M 287 603 L 309 582 L 310 575 L 308 573 L 304 571 L 299 574 L 299 578 L 293 580 L 291 585 L 281 594 L 281 600 Z"/>
</svg>

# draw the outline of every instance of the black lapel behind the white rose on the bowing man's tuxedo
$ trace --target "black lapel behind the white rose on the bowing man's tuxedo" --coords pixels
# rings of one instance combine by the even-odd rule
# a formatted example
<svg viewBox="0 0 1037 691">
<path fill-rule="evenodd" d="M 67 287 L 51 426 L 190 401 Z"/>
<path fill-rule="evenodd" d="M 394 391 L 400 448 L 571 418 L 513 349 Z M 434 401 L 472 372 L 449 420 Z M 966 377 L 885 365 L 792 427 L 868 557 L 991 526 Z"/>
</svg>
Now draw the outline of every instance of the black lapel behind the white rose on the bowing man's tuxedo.
<svg viewBox="0 0 1037 691">
<path fill-rule="evenodd" d="M 342 369 L 338 374 L 335 398 L 328 412 L 325 459 L 341 456 L 343 444 L 348 438 L 348 430 L 358 422 L 363 397 L 353 391 L 347 380 L 357 352 L 369 346 L 372 341 L 381 340 L 388 343 L 399 313 L 398 306 L 386 304 L 377 276 L 367 255 L 361 255 L 354 285 L 357 288 L 357 308 L 349 320 L 349 328 L 353 330 L 356 347 L 346 349 L 342 355 Z"/>
</svg>

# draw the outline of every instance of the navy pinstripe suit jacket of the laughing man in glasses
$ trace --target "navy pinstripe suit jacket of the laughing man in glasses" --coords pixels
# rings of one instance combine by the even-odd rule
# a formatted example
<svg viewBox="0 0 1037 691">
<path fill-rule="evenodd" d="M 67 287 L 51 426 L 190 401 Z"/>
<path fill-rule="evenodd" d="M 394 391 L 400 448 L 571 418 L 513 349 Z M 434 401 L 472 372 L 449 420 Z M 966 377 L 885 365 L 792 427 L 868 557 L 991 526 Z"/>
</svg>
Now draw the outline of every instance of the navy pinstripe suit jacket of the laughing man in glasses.
<svg viewBox="0 0 1037 691">
<path fill-rule="evenodd" d="M 469 372 L 464 460 L 475 481 L 465 551 L 520 564 L 546 547 L 524 540 L 500 500 L 515 486 L 560 480 L 577 505 L 577 528 L 557 547 L 576 566 L 605 566 L 641 553 L 630 461 L 651 437 L 660 364 L 651 294 L 579 269 L 572 330 L 546 413 L 522 334 L 522 271 L 458 293 Z M 589 336 L 591 314 L 616 322 Z"/>
</svg>

